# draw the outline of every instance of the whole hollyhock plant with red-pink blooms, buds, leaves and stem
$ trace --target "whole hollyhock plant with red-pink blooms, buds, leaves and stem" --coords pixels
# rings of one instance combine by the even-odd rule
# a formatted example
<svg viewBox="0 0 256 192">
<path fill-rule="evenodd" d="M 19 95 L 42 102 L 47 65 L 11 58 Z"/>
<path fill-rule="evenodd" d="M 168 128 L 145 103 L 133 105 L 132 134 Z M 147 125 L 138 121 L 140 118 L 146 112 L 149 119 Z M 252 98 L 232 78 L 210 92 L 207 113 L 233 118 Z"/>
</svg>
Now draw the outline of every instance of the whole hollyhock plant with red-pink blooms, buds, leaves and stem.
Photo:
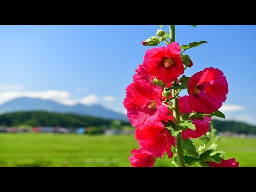
<svg viewBox="0 0 256 192">
<path fill-rule="evenodd" d="M 157 158 L 168 157 L 179 167 L 190 167 L 196 162 L 201 167 L 238 167 L 234 158 L 220 158 L 225 152 L 206 149 L 211 117 L 225 118 L 218 109 L 228 94 L 226 77 L 212 67 L 192 77 L 183 75 L 186 68 L 196 65 L 183 52 L 206 41 L 180 46 L 175 42 L 174 25 L 170 26 L 170 33 L 158 29 L 156 35 L 142 44 L 157 46 L 163 41 L 167 45 L 146 51 L 144 62 L 138 65 L 133 82 L 126 88 L 124 107 L 136 127 L 139 144 L 139 149 L 133 149 L 129 156 L 131 165 L 153 167 Z M 187 90 L 188 95 L 180 97 L 182 90 Z M 204 142 L 198 150 L 190 140 L 195 138 Z"/>
</svg>

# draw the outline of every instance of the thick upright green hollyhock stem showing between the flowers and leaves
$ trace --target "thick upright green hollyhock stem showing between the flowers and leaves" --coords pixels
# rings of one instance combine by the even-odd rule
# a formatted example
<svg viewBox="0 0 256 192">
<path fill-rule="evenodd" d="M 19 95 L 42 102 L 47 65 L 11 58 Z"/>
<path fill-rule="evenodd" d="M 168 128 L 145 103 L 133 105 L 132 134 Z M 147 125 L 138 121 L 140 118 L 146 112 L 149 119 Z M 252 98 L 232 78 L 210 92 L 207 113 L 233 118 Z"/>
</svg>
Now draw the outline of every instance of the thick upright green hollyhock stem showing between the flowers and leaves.
<svg viewBox="0 0 256 192">
<path fill-rule="evenodd" d="M 175 25 L 170 25 L 170 43 L 175 42 Z M 172 82 L 172 84 L 178 83 L 177 79 Z M 175 93 L 175 90 L 172 89 L 172 97 L 178 96 L 178 93 Z M 172 113 L 174 123 L 178 124 L 180 122 L 180 109 L 179 109 L 179 98 L 173 99 L 172 105 Z M 178 131 L 178 130 L 176 130 Z M 184 152 L 183 152 L 183 142 L 182 142 L 182 133 L 180 132 L 176 137 L 176 150 L 178 156 L 178 165 L 179 167 L 185 167 L 185 163 L 183 160 Z"/>
</svg>

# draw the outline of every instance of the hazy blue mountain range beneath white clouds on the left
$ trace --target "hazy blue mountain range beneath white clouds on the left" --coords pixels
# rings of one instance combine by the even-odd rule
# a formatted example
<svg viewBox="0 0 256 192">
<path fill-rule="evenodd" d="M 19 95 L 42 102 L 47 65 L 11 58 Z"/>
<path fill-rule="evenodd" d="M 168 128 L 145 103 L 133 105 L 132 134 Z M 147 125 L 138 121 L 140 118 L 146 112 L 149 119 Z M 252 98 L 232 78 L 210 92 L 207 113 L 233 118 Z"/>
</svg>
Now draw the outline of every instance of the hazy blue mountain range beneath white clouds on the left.
<svg viewBox="0 0 256 192">
<path fill-rule="evenodd" d="M 95 104 L 92 106 L 86 106 L 82 104 L 76 104 L 74 106 L 67 106 L 64 104 L 59 104 L 52 100 L 43 100 L 39 98 L 28 98 L 21 97 L 6 102 L 0 105 L 0 112 L 16 112 L 16 111 L 35 111 L 44 110 L 50 112 L 60 112 L 60 113 L 74 113 L 80 115 L 89 115 L 107 119 L 119 119 L 126 120 L 128 118 L 126 115 L 108 110 L 101 105 Z"/>
</svg>

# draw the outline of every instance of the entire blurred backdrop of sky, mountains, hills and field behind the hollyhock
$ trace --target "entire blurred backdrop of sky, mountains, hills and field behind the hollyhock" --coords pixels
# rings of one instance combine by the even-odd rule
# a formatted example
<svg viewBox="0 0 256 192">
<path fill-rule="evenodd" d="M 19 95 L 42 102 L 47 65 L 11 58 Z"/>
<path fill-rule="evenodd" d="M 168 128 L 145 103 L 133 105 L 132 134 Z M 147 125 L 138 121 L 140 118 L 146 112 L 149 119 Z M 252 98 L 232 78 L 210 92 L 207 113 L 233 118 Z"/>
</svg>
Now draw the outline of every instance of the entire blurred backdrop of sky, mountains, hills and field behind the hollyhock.
<svg viewBox="0 0 256 192">
<path fill-rule="evenodd" d="M 152 48 L 141 42 L 158 28 L 1 25 L 0 166 L 130 167 L 138 143 L 123 107 L 125 89 Z M 243 167 L 256 166 L 255 34 L 255 25 L 176 25 L 180 45 L 208 42 L 186 51 L 194 65 L 184 74 L 214 67 L 227 78 L 220 108 L 226 119 L 213 125 L 224 158 Z M 155 166 L 174 165 L 166 158 Z"/>
</svg>

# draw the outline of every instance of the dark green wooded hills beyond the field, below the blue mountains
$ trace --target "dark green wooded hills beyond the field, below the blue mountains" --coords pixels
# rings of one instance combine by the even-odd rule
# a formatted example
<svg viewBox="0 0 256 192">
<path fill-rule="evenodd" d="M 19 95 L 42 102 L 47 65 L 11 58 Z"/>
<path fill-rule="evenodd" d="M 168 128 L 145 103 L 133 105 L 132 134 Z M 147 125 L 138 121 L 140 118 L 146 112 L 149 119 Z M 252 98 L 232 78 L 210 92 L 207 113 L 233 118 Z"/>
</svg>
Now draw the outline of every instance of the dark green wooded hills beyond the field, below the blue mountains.
<svg viewBox="0 0 256 192">
<path fill-rule="evenodd" d="M 256 134 L 256 126 L 242 122 L 212 120 L 214 128 L 218 132 L 236 132 L 244 134 Z M 0 125 L 2 126 L 61 126 L 68 128 L 86 126 L 111 126 L 113 120 L 97 118 L 92 116 L 82 116 L 71 113 L 56 113 L 45 111 L 32 112 L 12 112 L 0 115 Z M 130 125 L 130 122 L 121 121 L 121 125 Z"/>
</svg>

